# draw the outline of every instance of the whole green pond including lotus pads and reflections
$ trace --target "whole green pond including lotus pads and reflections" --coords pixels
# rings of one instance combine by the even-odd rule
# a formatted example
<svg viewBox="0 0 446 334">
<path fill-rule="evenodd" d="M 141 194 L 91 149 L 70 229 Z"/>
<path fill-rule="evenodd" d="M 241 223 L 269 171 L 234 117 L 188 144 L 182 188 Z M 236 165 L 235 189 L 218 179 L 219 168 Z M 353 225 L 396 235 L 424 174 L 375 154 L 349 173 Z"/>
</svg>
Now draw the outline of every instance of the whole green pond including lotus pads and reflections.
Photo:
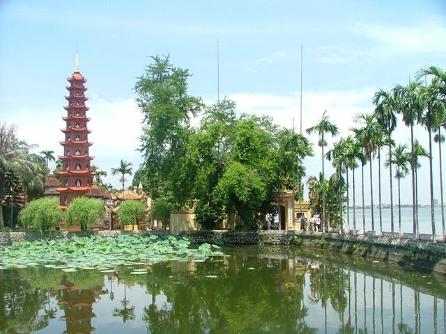
<svg viewBox="0 0 446 334">
<path fill-rule="evenodd" d="M 0 248 L 0 333 L 446 333 L 446 278 L 174 237 Z"/>
</svg>

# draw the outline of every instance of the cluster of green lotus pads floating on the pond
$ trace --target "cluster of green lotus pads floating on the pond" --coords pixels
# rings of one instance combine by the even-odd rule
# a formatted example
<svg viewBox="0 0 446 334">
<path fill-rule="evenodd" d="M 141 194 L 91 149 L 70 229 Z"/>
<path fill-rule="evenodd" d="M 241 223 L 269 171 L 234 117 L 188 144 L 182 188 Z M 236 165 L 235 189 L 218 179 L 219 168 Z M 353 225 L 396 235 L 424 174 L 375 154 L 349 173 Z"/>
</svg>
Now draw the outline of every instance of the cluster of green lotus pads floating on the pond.
<svg viewBox="0 0 446 334">
<path fill-rule="evenodd" d="M 36 267 L 77 271 L 98 269 L 113 271 L 121 265 L 152 264 L 163 261 L 204 261 L 222 255 L 217 245 L 201 244 L 192 248 L 186 238 L 121 234 L 112 237 L 77 237 L 18 241 L 13 246 L 0 247 L 0 269 Z"/>
</svg>

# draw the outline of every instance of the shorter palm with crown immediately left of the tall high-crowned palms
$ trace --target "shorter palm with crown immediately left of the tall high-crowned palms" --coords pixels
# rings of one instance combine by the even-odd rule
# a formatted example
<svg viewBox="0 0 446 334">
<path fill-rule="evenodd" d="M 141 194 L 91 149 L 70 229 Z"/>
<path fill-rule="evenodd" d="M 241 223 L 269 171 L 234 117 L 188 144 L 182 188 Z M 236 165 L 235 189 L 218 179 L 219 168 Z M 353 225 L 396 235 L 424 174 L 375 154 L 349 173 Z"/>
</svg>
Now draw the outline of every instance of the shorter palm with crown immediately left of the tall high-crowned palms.
<svg viewBox="0 0 446 334">
<path fill-rule="evenodd" d="M 365 157 L 367 158 L 367 160 L 370 161 L 369 168 L 370 168 L 371 230 L 375 231 L 374 186 L 373 186 L 373 168 L 371 164 L 371 158 L 374 156 L 376 152 L 376 148 L 378 147 L 377 141 L 379 140 L 382 132 L 373 114 L 360 113 L 355 117 L 355 122 L 360 122 L 362 124 L 362 127 L 359 129 L 353 128 L 352 131 L 355 133 L 357 141 L 361 144 L 362 149 L 364 150 Z M 363 220 L 363 228 L 365 232 L 364 220 Z M 380 225 L 380 232 L 382 232 L 381 225 Z"/>
</svg>

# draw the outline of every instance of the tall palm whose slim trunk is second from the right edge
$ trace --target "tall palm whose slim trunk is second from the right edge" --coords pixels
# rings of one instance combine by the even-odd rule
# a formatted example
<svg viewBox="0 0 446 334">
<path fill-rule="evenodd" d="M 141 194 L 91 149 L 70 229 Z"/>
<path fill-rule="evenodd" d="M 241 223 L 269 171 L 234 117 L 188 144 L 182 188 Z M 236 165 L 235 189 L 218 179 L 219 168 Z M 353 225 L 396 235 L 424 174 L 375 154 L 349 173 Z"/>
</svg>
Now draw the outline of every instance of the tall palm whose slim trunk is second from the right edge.
<svg viewBox="0 0 446 334">
<path fill-rule="evenodd" d="M 435 213 L 433 207 L 433 175 L 432 175 L 432 129 L 438 127 L 439 112 L 445 106 L 444 102 L 440 100 L 440 89 L 435 84 L 429 86 L 422 86 L 420 91 L 421 103 L 424 107 L 424 113 L 420 122 L 427 129 L 429 134 L 429 181 L 430 181 L 430 196 L 431 196 L 431 226 L 432 238 L 436 242 L 436 227 L 435 227 Z"/>
</svg>

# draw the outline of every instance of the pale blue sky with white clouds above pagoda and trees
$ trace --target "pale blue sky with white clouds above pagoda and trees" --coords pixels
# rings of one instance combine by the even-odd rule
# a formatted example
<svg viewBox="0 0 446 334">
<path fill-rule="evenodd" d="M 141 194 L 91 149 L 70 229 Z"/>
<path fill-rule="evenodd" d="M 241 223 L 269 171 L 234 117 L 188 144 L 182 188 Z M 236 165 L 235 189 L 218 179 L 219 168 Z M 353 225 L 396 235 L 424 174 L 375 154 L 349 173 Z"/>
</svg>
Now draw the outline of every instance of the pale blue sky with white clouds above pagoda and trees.
<svg viewBox="0 0 446 334">
<path fill-rule="evenodd" d="M 120 159 L 137 166 L 133 86 L 148 56 L 170 54 L 174 65 L 193 74 L 190 93 L 213 102 L 217 38 L 220 95 L 236 100 L 240 113 L 268 114 L 287 127 L 293 118 L 298 126 L 304 45 L 302 126 L 328 109 L 345 136 L 355 113 L 373 110 L 379 87 L 406 84 L 426 65 L 446 67 L 446 3 L 3 0 L 0 120 L 17 124 L 20 137 L 41 150 L 60 154 L 66 77 L 78 42 L 81 72 L 89 79 L 94 162 L 107 171 Z M 426 144 L 422 128 L 415 134 Z M 396 136 L 407 142 L 408 129 Z M 306 161 L 309 174 L 320 169 L 318 153 Z M 409 202 L 410 179 L 402 186 Z"/>
</svg>

